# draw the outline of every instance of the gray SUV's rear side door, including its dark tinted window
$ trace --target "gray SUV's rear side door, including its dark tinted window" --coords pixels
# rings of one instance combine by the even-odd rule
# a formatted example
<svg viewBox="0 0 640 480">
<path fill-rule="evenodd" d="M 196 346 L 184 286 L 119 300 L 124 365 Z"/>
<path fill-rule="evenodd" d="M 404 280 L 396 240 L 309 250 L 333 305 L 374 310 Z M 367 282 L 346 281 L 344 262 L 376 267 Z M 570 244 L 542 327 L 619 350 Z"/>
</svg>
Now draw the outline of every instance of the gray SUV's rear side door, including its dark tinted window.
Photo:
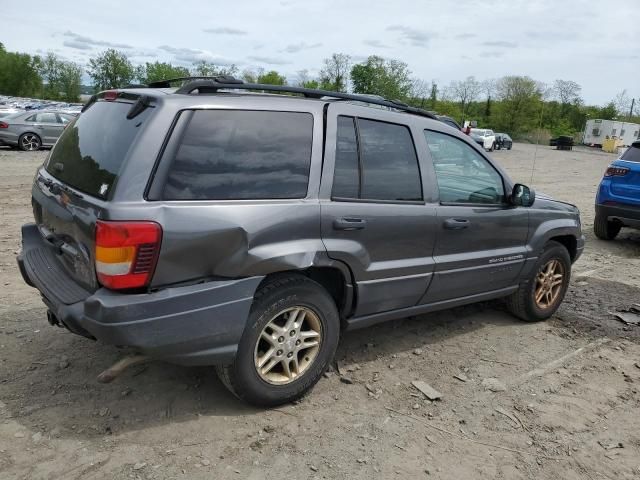
<svg viewBox="0 0 640 480">
<path fill-rule="evenodd" d="M 425 201 L 414 132 L 388 118 L 371 108 L 328 109 L 322 239 L 353 273 L 356 316 L 415 305 L 433 272 L 435 207 Z"/>
</svg>

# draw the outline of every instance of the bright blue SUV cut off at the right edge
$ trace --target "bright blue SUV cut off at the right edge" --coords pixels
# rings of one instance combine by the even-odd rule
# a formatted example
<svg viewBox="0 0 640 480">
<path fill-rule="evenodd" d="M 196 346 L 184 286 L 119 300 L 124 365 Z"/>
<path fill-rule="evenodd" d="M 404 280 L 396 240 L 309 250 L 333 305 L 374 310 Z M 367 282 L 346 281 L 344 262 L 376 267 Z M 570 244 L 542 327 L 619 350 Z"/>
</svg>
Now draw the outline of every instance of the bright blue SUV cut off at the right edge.
<svg viewBox="0 0 640 480">
<path fill-rule="evenodd" d="M 622 227 L 640 228 L 640 141 L 607 167 L 596 196 L 596 236 L 613 240 Z"/>
</svg>

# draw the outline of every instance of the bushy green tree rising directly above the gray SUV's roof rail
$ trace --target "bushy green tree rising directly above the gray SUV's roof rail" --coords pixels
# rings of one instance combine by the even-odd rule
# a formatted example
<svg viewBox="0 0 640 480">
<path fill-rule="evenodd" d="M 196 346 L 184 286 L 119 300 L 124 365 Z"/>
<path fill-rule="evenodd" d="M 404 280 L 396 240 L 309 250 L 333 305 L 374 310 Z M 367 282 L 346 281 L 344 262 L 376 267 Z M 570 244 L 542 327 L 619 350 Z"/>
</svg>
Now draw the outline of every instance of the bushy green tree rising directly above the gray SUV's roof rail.
<svg viewBox="0 0 640 480">
<path fill-rule="evenodd" d="M 413 86 L 410 75 L 406 63 L 372 55 L 366 62 L 353 66 L 351 82 L 355 93 L 380 95 L 390 100 L 406 100 Z"/>
</svg>

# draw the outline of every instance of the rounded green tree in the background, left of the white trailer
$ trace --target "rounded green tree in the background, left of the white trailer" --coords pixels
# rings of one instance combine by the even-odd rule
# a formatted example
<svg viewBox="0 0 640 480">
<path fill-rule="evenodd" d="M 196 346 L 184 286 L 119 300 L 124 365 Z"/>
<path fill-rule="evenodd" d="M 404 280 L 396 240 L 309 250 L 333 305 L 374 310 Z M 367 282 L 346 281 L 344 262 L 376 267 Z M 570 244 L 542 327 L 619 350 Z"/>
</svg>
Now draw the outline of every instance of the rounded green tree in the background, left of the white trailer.
<svg viewBox="0 0 640 480">
<path fill-rule="evenodd" d="M 494 128 L 517 135 L 538 125 L 541 92 L 529 77 L 508 76 L 496 85 L 500 100 L 494 110 Z"/>
</svg>

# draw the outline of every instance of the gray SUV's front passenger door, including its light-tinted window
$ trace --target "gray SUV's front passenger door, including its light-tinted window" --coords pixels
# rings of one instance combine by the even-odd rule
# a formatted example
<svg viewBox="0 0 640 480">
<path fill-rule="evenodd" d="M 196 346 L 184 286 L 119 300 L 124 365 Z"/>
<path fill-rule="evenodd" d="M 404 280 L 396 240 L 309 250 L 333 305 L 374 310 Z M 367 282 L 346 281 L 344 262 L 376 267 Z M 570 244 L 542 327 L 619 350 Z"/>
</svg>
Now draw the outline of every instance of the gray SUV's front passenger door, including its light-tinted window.
<svg viewBox="0 0 640 480">
<path fill-rule="evenodd" d="M 524 265 L 528 211 L 507 203 L 500 172 L 459 138 L 425 130 L 440 203 L 433 282 L 420 303 L 516 285 Z"/>
</svg>

